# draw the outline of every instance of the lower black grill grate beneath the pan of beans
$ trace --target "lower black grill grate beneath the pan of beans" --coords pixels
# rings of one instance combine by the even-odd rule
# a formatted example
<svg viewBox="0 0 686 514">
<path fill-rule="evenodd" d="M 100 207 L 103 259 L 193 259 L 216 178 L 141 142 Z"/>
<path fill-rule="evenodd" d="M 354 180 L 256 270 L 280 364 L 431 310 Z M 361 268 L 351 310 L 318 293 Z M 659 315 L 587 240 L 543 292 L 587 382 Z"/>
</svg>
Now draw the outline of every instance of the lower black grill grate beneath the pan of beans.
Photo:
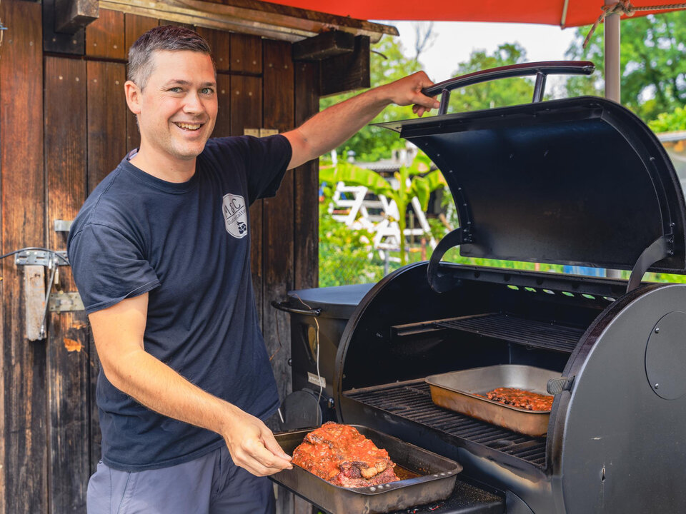
<svg viewBox="0 0 686 514">
<path fill-rule="evenodd" d="M 429 428 L 514 455 L 540 468 L 545 467 L 545 438 L 518 434 L 437 407 L 431 400 L 429 385 L 424 381 L 392 387 L 382 386 L 377 389 L 353 390 L 346 393 L 346 396 L 370 407 L 422 423 Z"/>
</svg>

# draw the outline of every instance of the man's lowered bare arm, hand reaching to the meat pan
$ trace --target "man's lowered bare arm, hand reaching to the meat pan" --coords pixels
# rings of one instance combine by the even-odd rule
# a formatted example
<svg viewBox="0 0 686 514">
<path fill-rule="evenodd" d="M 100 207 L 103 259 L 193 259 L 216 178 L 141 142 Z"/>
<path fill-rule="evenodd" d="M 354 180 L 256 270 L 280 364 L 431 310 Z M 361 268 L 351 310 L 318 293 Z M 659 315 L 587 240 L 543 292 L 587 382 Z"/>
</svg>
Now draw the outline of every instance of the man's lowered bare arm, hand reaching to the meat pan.
<svg viewBox="0 0 686 514">
<path fill-rule="evenodd" d="M 89 315 L 102 370 L 114 387 L 158 413 L 219 433 L 234 463 L 264 476 L 292 468 L 261 420 L 206 393 L 144 350 L 147 293 Z"/>
</svg>

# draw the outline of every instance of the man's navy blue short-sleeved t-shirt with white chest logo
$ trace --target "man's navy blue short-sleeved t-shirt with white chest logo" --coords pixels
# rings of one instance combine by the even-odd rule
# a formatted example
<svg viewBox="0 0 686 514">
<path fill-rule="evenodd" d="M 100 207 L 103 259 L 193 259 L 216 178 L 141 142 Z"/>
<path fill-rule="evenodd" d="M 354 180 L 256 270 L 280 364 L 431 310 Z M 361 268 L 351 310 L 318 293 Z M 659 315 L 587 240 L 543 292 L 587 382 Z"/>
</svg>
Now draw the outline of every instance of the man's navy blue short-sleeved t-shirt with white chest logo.
<svg viewBox="0 0 686 514">
<path fill-rule="evenodd" d="M 125 158 L 86 200 L 67 243 L 87 313 L 149 293 L 145 351 L 262 419 L 279 398 L 254 303 L 248 207 L 274 196 L 290 158 L 280 135 L 210 139 L 184 183 Z M 163 468 L 224 444 L 144 407 L 102 371 L 96 398 L 111 468 Z"/>
</svg>

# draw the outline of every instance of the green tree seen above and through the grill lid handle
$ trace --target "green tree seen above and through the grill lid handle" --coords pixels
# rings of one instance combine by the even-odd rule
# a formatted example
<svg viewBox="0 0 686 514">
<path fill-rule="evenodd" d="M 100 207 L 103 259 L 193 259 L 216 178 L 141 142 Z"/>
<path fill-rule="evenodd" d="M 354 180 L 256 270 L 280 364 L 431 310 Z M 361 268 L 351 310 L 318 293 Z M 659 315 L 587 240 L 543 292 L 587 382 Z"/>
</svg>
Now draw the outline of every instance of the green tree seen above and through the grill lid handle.
<svg viewBox="0 0 686 514">
<path fill-rule="evenodd" d="M 519 64 L 526 60 L 527 51 L 519 43 L 502 44 L 492 54 L 483 50 L 474 50 L 469 55 L 469 61 L 460 64 L 453 76 Z M 533 91 L 531 79 L 515 78 L 483 82 L 452 91 L 450 107 L 454 111 L 462 112 L 528 104 L 532 99 Z"/>
</svg>

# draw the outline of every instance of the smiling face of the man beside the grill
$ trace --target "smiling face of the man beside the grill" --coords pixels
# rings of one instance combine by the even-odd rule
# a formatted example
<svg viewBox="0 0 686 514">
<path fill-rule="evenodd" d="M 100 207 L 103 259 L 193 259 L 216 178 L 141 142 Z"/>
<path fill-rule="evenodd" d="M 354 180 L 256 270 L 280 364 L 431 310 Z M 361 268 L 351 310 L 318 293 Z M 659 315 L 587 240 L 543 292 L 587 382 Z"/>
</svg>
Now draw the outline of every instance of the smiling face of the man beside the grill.
<svg viewBox="0 0 686 514">
<path fill-rule="evenodd" d="M 156 51 L 136 101 L 141 150 L 190 160 L 202 152 L 217 119 L 212 59 L 196 51 Z"/>
</svg>

